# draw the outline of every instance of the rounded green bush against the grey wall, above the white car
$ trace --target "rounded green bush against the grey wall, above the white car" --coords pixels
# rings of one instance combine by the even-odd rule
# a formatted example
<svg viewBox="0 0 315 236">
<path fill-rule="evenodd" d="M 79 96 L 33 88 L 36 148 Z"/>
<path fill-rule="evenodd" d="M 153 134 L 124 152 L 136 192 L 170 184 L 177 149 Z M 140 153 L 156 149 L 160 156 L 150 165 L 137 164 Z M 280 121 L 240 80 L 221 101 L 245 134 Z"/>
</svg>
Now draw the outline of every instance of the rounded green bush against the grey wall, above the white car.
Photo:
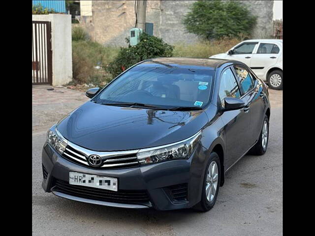
<svg viewBox="0 0 315 236">
<path fill-rule="evenodd" d="M 256 24 L 256 16 L 237 1 L 202 1 L 192 3 L 183 24 L 190 33 L 204 39 L 250 35 Z"/>
</svg>

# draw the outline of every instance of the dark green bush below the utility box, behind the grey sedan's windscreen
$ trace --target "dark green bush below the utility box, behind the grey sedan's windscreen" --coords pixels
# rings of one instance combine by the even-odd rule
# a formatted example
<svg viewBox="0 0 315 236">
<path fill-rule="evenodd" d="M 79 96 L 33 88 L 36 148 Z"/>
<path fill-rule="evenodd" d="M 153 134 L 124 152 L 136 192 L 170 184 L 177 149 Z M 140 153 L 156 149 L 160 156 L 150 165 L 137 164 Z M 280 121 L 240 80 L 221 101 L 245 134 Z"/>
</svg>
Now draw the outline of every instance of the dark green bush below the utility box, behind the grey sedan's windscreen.
<svg viewBox="0 0 315 236">
<path fill-rule="evenodd" d="M 129 43 L 129 39 L 126 38 Z M 140 35 L 140 42 L 136 46 L 120 48 L 119 54 L 107 67 L 113 78 L 122 73 L 130 66 L 150 58 L 172 57 L 174 47 L 165 43 L 161 38 L 151 36 L 147 33 Z"/>
</svg>

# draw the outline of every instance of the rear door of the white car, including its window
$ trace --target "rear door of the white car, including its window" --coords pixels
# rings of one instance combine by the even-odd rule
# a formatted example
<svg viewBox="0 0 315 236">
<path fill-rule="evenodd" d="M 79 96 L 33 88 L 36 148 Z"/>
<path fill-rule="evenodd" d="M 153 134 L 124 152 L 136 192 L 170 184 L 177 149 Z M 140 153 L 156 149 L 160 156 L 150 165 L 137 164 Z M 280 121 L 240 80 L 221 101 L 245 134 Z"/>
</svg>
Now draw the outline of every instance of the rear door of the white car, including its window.
<svg viewBox="0 0 315 236">
<path fill-rule="evenodd" d="M 262 80 L 270 67 L 275 65 L 281 55 L 281 47 L 277 43 L 260 42 L 257 52 L 252 54 L 250 67 L 253 72 Z"/>
</svg>

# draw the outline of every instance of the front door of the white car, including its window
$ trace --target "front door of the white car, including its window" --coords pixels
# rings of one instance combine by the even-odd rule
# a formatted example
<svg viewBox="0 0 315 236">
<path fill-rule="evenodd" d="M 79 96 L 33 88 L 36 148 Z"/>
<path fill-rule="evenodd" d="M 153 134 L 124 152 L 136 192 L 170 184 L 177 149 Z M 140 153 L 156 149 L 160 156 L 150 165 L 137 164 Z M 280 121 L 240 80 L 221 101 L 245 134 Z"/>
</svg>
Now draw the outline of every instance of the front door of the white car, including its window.
<svg viewBox="0 0 315 236">
<path fill-rule="evenodd" d="M 252 53 L 255 52 L 258 42 L 244 42 L 233 49 L 229 59 L 238 60 L 250 66 Z"/>
</svg>

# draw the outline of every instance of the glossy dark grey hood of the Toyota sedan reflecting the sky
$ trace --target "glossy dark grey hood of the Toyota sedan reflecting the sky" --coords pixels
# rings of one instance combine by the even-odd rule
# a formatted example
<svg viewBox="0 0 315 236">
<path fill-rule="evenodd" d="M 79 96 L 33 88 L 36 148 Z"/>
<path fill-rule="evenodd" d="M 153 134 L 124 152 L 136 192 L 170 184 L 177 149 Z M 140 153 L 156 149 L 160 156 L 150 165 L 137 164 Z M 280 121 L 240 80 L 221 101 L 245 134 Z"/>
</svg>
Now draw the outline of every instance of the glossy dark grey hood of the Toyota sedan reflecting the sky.
<svg viewBox="0 0 315 236">
<path fill-rule="evenodd" d="M 57 129 L 70 142 L 95 151 L 131 150 L 189 138 L 208 122 L 203 110 L 164 111 L 87 102 Z"/>
</svg>

